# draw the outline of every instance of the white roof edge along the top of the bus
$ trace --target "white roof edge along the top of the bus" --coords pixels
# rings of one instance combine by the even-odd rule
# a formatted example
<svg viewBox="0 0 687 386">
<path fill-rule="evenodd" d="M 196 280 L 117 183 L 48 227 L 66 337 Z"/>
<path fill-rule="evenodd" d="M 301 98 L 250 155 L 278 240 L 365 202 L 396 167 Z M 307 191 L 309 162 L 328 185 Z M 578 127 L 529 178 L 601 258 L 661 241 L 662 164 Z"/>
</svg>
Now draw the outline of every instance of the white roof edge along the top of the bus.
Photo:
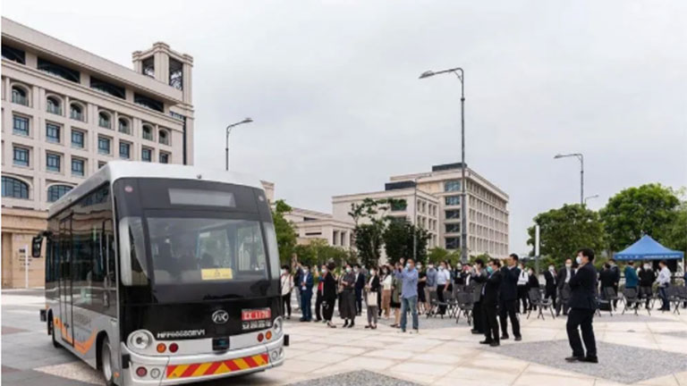
<svg viewBox="0 0 687 386">
<path fill-rule="evenodd" d="M 53 215 L 62 211 L 73 201 L 89 193 L 91 190 L 109 181 L 123 178 L 163 178 L 175 180 L 206 180 L 215 182 L 232 183 L 235 185 L 249 186 L 264 190 L 260 181 L 248 174 L 237 172 L 225 172 L 216 169 L 205 169 L 196 166 L 180 164 L 154 164 L 134 161 L 110 161 L 93 173 L 88 179 L 81 182 L 76 188 L 67 192 L 63 197 L 55 201 L 48 208 L 47 215 Z"/>
</svg>

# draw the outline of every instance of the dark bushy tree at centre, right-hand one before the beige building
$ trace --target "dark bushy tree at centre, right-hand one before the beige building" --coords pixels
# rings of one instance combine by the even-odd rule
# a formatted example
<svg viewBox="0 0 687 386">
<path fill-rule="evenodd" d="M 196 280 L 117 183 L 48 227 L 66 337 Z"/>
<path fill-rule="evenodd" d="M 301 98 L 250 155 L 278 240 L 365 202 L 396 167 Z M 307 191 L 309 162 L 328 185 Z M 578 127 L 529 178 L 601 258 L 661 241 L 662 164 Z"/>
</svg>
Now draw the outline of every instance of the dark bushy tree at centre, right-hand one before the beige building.
<svg viewBox="0 0 687 386">
<path fill-rule="evenodd" d="M 427 260 L 428 231 L 416 227 L 408 221 L 392 221 L 386 226 L 384 234 L 384 248 L 389 263 L 395 264 L 401 257 L 407 260 L 413 258 L 413 238 L 415 240 L 416 263 L 424 263 Z"/>
</svg>

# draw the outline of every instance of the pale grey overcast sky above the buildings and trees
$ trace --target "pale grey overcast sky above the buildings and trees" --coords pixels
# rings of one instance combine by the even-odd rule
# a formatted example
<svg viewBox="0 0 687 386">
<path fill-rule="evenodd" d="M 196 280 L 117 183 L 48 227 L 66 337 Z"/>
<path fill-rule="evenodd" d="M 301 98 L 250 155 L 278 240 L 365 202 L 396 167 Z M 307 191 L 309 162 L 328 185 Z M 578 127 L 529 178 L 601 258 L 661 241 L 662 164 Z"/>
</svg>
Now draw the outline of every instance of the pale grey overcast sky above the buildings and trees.
<svg viewBox="0 0 687 386">
<path fill-rule="evenodd" d="M 488 3 L 488 4 L 485 4 Z M 384 189 L 460 160 L 510 195 L 510 247 L 532 217 L 585 195 L 687 185 L 684 1 L 26 1 L 2 13 L 131 66 L 165 41 L 194 57 L 196 164 L 276 183 L 293 206 Z"/>
</svg>

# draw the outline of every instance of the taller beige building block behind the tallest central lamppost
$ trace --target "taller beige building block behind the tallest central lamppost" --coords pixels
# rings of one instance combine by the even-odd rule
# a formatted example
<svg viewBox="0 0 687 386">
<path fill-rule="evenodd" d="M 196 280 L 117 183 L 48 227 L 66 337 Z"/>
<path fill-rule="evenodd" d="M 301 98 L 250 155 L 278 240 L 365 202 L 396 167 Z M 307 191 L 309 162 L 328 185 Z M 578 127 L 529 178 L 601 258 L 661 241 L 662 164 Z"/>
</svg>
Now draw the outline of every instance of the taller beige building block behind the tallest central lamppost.
<svg viewBox="0 0 687 386">
<path fill-rule="evenodd" d="M 494 257 L 508 255 L 508 195 L 467 167 L 468 253 Z M 393 176 L 395 183 L 412 183 L 437 197 L 439 247 L 461 248 L 461 164 L 432 166 L 432 172 Z M 388 185 L 388 184 L 387 184 Z"/>
</svg>

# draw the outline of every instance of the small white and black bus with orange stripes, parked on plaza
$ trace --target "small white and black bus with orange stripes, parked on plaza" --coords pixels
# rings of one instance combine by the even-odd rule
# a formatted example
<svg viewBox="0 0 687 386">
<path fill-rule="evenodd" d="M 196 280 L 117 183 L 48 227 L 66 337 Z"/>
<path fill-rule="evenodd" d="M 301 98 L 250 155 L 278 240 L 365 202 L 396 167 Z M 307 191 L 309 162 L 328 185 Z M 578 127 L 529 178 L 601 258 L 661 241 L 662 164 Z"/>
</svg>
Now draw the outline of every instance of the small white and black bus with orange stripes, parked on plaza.
<svg viewBox="0 0 687 386">
<path fill-rule="evenodd" d="M 48 209 L 46 307 L 56 348 L 106 384 L 171 385 L 284 363 L 279 256 L 259 180 L 107 163 Z"/>
</svg>

